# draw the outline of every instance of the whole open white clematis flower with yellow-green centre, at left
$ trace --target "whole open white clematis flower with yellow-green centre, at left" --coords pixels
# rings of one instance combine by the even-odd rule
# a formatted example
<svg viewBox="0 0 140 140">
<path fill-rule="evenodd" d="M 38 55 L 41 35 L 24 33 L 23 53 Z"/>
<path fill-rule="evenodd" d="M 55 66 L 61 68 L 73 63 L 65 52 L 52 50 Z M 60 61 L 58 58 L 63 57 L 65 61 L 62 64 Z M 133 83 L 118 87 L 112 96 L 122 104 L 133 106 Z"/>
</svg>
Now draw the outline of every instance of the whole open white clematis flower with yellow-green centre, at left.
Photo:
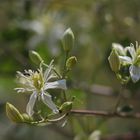
<svg viewBox="0 0 140 140">
<path fill-rule="evenodd" d="M 41 99 L 54 113 L 58 113 L 56 105 L 53 103 L 51 95 L 47 92 L 48 89 L 63 89 L 66 90 L 66 80 L 56 80 L 49 82 L 54 77 L 52 62 L 43 73 L 42 68 L 38 71 L 25 70 L 25 74 L 17 72 L 19 83 L 22 87 L 15 88 L 17 92 L 32 92 L 29 102 L 26 106 L 26 112 L 29 116 L 34 114 L 34 105 L 37 99 Z"/>
</svg>

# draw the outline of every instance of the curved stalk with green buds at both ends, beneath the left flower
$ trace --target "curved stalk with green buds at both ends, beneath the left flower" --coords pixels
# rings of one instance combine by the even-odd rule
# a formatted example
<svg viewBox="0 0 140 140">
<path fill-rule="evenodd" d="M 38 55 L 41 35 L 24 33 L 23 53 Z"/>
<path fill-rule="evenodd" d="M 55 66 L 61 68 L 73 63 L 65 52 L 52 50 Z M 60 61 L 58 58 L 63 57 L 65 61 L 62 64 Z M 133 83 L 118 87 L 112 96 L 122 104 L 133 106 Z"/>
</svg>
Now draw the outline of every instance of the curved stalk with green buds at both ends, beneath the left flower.
<svg viewBox="0 0 140 140">
<path fill-rule="evenodd" d="M 44 126 L 65 120 L 68 113 L 72 109 L 72 103 L 73 102 L 71 101 L 64 102 L 59 108 L 59 117 L 54 118 L 55 116 L 53 115 L 51 116 L 53 119 L 51 119 L 51 117 L 47 117 L 43 118 L 42 120 L 36 120 L 27 113 L 21 113 L 14 105 L 8 102 L 6 103 L 6 114 L 7 117 L 14 123 L 26 123 L 30 125 Z"/>
</svg>

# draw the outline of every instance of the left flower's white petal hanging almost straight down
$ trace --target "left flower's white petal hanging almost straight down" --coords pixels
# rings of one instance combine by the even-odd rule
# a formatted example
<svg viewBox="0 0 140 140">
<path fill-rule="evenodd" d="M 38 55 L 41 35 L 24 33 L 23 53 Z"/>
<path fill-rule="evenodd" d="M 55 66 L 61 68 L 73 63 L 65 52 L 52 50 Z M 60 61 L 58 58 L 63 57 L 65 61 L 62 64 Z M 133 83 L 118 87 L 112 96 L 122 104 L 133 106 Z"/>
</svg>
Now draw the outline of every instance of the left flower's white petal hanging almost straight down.
<svg viewBox="0 0 140 140">
<path fill-rule="evenodd" d="M 33 108 L 34 108 L 36 99 L 37 99 L 37 93 L 34 92 L 33 94 L 31 94 L 29 102 L 26 106 L 26 112 L 28 113 L 29 116 L 32 116 L 34 113 Z"/>
</svg>

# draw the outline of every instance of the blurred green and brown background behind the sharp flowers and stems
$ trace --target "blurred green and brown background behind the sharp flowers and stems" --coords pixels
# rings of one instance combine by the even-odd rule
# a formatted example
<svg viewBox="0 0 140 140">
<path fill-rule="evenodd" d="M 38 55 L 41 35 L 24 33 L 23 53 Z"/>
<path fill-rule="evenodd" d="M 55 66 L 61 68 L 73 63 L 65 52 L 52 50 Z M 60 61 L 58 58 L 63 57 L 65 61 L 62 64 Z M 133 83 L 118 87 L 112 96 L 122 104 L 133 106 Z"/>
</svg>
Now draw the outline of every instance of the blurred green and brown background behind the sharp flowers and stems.
<svg viewBox="0 0 140 140">
<path fill-rule="evenodd" d="M 64 128 L 61 124 L 16 125 L 7 119 L 6 101 L 25 112 L 27 98 L 13 89 L 17 86 L 17 70 L 35 68 L 29 60 L 29 50 L 40 53 L 46 63 L 54 59 L 60 66 L 60 39 L 68 27 L 75 35 L 71 55 L 78 59 L 68 76 L 71 86 L 67 94 L 76 96 L 74 108 L 113 108 L 121 85 L 107 58 L 112 42 L 127 46 L 140 41 L 139 0 L 0 0 L 1 140 L 91 140 L 89 136 L 95 130 L 100 131 L 101 137 L 139 132 L 140 121 L 132 119 L 72 116 Z M 121 102 L 133 105 L 134 112 L 140 111 L 139 84 L 130 83 Z"/>
</svg>

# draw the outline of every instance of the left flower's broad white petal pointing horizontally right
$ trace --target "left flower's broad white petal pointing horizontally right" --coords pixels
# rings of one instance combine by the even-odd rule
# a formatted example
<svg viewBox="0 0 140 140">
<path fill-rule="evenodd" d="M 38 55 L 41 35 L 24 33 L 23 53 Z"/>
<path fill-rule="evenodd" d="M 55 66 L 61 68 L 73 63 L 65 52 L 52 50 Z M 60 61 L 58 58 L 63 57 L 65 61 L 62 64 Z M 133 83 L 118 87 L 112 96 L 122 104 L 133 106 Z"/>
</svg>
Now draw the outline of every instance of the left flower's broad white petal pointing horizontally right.
<svg viewBox="0 0 140 140">
<path fill-rule="evenodd" d="M 47 90 L 47 89 L 64 89 L 64 90 L 66 90 L 67 89 L 66 80 L 62 79 L 62 80 L 58 80 L 55 82 L 47 82 L 45 84 L 44 90 Z"/>
</svg>

